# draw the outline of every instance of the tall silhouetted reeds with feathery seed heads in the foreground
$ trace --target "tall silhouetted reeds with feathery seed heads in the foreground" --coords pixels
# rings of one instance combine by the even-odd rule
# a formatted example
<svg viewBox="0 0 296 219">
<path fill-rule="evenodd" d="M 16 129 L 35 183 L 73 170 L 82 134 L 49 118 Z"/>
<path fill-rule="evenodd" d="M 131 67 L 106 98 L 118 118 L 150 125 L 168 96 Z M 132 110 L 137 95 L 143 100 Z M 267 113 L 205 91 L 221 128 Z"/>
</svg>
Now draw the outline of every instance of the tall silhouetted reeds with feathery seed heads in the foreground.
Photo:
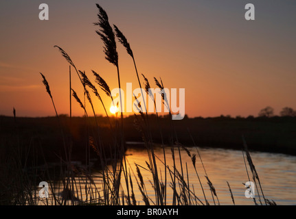
<svg viewBox="0 0 296 219">
<path fill-rule="evenodd" d="M 117 81 L 119 89 L 121 88 L 120 74 L 119 74 L 119 59 L 117 53 L 116 46 L 116 37 L 119 42 L 123 44 L 126 48 L 126 51 L 130 57 L 132 57 L 133 65 L 135 67 L 135 73 L 137 76 L 137 81 L 139 83 L 139 87 L 141 87 L 141 80 L 139 78 L 139 73 L 137 70 L 137 65 L 135 62 L 134 53 L 130 47 L 130 43 L 122 34 L 122 31 L 118 29 L 116 25 L 114 25 L 115 31 L 113 31 L 113 27 L 111 27 L 109 23 L 109 17 L 106 14 L 105 10 L 99 5 L 96 4 L 98 8 L 98 22 L 94 23 L 96 26 L 100 27 L 96 31 L 96 33 L 100 36 L 104 44 L 104 54 L 106 60 L 108 60 L 111 64 L 116 67 L 117 70 Z M 109 118 L 107 113 L 105 103 L 102 99 L 102 96 L 99 90 L 95 87 L 95 83 L 91 82 L 91 79 L 87 77 L 87 74 L 76 68 L 76 65 L 71 60 L 71 57 L 63 50 L 61 47 L 55 46 L 58 48 L 60 53 L 65 60 L 70 64 L 70 72 L 69 72 L 69 86 L 70 86 L 70 115 L 71 115 L 71 96 L 76 100 L 78 105 L 82 108 L 84 112 L 85 121 L 87 124 L 87 142 L 86 142 L 86 160 L 90 159 L 90 149 L 93 149 L 95 153 L 98 155 L 98 160 L 100 161 L 100 183 L 95 182 L 94 179 L 98 176 L 94 176 L 91 173 L 91 166 L 89 162 L 86 162 L 85 168 L 81 168 L 73 165 L 71 161 L 71 153 L 72 153 L 72 134 L 71 127 L 69 132 L 69 138 L 66 138 L 64 127 L 62 127 L 60 118 L 58 116 L 58 111 L 56 109 L 56 105 L 54 103 L 54 97 L 52 95 L 52 91 L 49 88 L 49 82 L 45 78 L 45 75 L 41 73 L 42 81 L 45 86 L 46 92 L 49 95 L 52 105 L 54 107 L 54 112 L 56 117 L 58 118 L 58 124 L 60 127 L 60 132 L 64 144 L 65 151 L 65 159 L 60 155 L 56 155 L 60 159 L 60 170 L 59 170 L 59 179 L 60 183 L 55 183 L 54 179 L 52 179 L 52 174 L 50 173 L 49 165 L 43 155 L 43 160 L 45 164 L 45 168 L 43 169 L 42 177 L 36 177 L 36 172 L 38 172 L 38 168 L 35 168 L 32 174 L 32 177 L 28 174 L 28 172 L 23 171 L 23 164 L 20 162 L 21 160 L 21 151 L 22 146 L 18 144 L 17 150 L 13 151 L 12 157 L 14 159 L 0 159 L 3 166 L 10 166 L 12 170 L 10 172 L 14 172 L 16 176 L 14 179 L 16 181 L 12 183 L 14 185 L 13 190 L 10 190 L 11 196 L 3 196 L 1 195 L 1 203 L 8 204 L 16 204 L 16 205 L 138 205 L 139 202 L 136 200 L 135 191 L 138 190 L 142 197 L 142 203 L 145 205 L 168 205 L 171 204 L 168 202 L 168 193 L 172 193 L 172 205 L 210 205 L 210 199 L 212 198 L 212 203 L 214 205 L 220 205 L 218 194 L 216 192 L 216 188 L 209 176 L 207 175 L 207 171 L 203 164 L 203 160 L 201 158 L 201 154 L 196 149 L 196 153 L 199 157 L 199 161 L 203 170 L 205 172 L 205 179 L 207 181 L 207 186 L 209 191 L 211 192 L 212 197 L 207 197 L 205 190 L 206 187 L 203 185 L 201 180 L 201 174 L 198 172 L 198 168 L 196 166 L 199 164 L 196 162 L 196 154 L 192 154 L 185 146 L 183 146 L 178 139 L 177 131 L 175 129 L 174 122 L 172 120 L 172 112 L 170 111 L 170 104 L 168 103 L 168 99 L 166 99 L 166 93 L 162 94 L 163 105 L 164 107 L 168 107 L 168 114 L 170 116 L 170 127 L 171 127 L 171 136 L 172 139 L 170 142 L 171 149 L 171 160 L 173 165 L 169 166 L 167 162 L 167 155 L 165 151 L 165 145 L 163 141 L 163 134 L 161 131 L 160 125 L 160 116 L 157 112 L 157 105 L 154 96 L 150 93 L 149 89 L 150 83 L 148 79 L 142 74 L 144 78 L 144 86 L 146 90 L 146 94 L 153 100 L 155 105 L 155 110 L 157 112 L 157 123 L 159 126 L 159 135 L 161 136 L 161 146 L 163 149 L 163 157 L 158 157 L 155 155 L 155 144 L 152 139 L 152 130 L 150 129 L 149 116 L 146 110 L 146 103 L 144 102 L 144 109 L 146 110 L 146 114 L 143 113 L 143 108 L 141 103 L 138 102 L 137 107 L 139 108 L 139 114 L 135 114 L 135 127 L 139 131 L 139 134 L 143 137 L 146 151 L 147 151 L 147 159 L 146 167 L 139 166 L 139 164 L 135 165 L 136 172 L 133 172 L 133 168 L 131 164 L 128 163 L 125 154 L 125 146 L 124 146 L 124 114 L 122 109 L 122 94 L 120 95 L 120 125 L 119 118 L 116 118 L 116 125 L 114 126 Z M 74 90 L 75 88 L 71 85 L 71 67 L 76 71 L 78 78 L 80 79 L 80 83 L 84 88 L 84 103 L 80 99 L 79 94 Z M 109 88 L 108 83 L 106 83 L 105 79 L 103 79 L 98 73 L 92 71 L 93 76 L 95 77 L 95 82 L 100 86 L 101 90 L 111 98 L 113 101 L 113 96 L 111 96 L 111 90 Z M 156 78 L 155 85 L 164 90 L 163 81 L 160 81 Z M 101 125 L 98 123 L 98 119 L 96 117 L 96 109 L 93 105 L 93 100 L 89 90 L 91 89 L 93 94 L 99 99 L 100 103 L 102 103 L 102 108 L 106 114 L 106 118 L 109 120 L 110 131 L 112 138 L 109 140 L 109 145 L 105 145 L 102 143 L 102 134 L 100 133 Z M 142 94 L 144 96 L 144 94 Z M 137 97 L 135 96 L 137 99 Z M 91 126 L 91 117 L 89 116 L 89 112 L 87 112 L 86 101 L 88 100 L 91 105 L 91 110 L 93 116 L 95 118 L 95 128 Z M 71 116 L 70 116 L 71 119 Z M 14 110 L 14 123 L 16 123 L 16 114 Z M 190 134 L 190 138 L 192 138 Z M 194 140 L 192 138 L 194 143 Z M 253 181 L 258 183 L 260 187 L 260 193 L 264 198 L 264 203 L 266 205 L 275 204 L 273 201 L 269 201 L 265 198 L 264 192 L 262 190 L 262 185 L 260 183 L 260 179 L 258 177 L 258 172 L 255 170 L 255 166 L 253 165 L 251 155 L 247 150 L 247 144 L 243 141 L 244 145 L 244 154 L 247 157 L 247 162 L 249 163 L 249 168 L 253 175 Z M 195 143 L 194 143 L 195 146 Z M 40 149 L 42 151 L 42 147 Z M 178 152 L 177 156 L 179 156 L 179 167 L 177 167 L 177 157 L 176 150 Z M 182 161 L 181 150 L 185 151 L 187 155 L 190 157 L 192 167 L 196 172 L 196 178 L 198 179 L 198 183 L 200 185 L 200 189 L 194 188 L 193 185 L 190 185 L 190 176 L 188 175 L 188 165 Z M 7 152 L 3 152 L 5 154 Z M 11 153 L 11 152 L 10 152 Z M 2 153 L 0 153 L 2 154 Z M 109 159 L 111 158 L 111 163 Z M 158 164 L 157 164 L 158 162 Z M 160 165 L 159 165 L 160 164 Z M 249 175 L 247 163 L 245 163 L 245 168 L 247 170 L 247 174 Z M 143 175 L 141 171 L 150 172 L 150 176 L 152 179 L 150 180 L 150 186 L 154 190 L 154 195 L 150 196 L 147 192 L 147 187 Z M 162 172 L 164 172 L 164 181 L 162 180 Z M 36 183 L 40 179 L 47 179 L 49 181 L 49 190 L 51 196 L 47 198 L 45 201 L 38 197 L 36 194 Z M 172 183 L 168 183 L 168 178 Z M 5 179 L 9 182 L 9 179 Z M 124 180 L 124 183 L 122 183 Z M 102 185 L 102 188 L 99 188 Z M 137 188 L 135 187 L 137 185 Z M 231 201 L 235 204 L 234 196 L 231 192 L 231 188 L 229 183 L 227 182 L 229 187 L 229 192 Z M 4 188 L 4 190 L 9 190 L 9 188 Z M 200 198 L 196 194 L 202 192 L 203 197 Z M 259 193 L 258 193 L 259 194 Z M 262 204 L 259 196 L 259 201 Z M 254 203 L 257 202 L 254 199 Z"/>
</svg>

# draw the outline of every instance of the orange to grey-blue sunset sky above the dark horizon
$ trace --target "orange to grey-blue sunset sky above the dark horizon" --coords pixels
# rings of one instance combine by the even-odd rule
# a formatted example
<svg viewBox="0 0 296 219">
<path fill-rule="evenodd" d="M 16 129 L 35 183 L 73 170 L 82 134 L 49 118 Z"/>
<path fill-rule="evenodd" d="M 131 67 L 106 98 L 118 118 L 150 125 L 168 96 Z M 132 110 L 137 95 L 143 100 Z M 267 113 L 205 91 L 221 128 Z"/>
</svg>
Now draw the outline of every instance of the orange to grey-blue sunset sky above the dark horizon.
<svg viewBox="0 0 296 219">
<path fill-rule="evenodd" d="M 49 5 L 49 21 L 38 18 L 41 3 Z M 257 116 L 266 106 L 275 114 L 283 107 L 296 110 L 294 0 L 11 0 L 0 2 L 0 115 L 12 116 L 15 107 L 17 116 L 54 116 L 39 73 L 49 82 L 58 114 L 69 114 L 69 64 L 54 45 L 91 81 L 95 70 L 111 89 L 118 87 L 117 70 L 95 33 L 95 3 L 124 33 L 152 87 L 153 77 L 161 77 L 166 88 L 185 88 L 188 116 Z M 244 18 L 247 3 L 255 5 L 255 21 Z M 122 87 L 138 88 L 133 60 L 119 42 L 117 51 Z M 73 70 L 72 87 L 82 99 Z M 103 114 L 94 96 L 93 102 Z M 73 115 L 83 115 L 74 100 Z"/>
</svg>

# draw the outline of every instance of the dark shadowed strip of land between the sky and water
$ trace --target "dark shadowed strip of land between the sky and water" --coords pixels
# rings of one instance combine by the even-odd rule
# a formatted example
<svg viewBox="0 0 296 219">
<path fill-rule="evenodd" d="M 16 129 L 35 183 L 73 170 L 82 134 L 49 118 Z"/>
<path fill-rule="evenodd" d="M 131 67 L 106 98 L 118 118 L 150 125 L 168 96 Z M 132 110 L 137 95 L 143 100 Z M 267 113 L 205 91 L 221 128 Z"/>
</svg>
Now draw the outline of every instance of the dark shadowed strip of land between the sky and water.
<svg viewBox="0 0 296 219">
<path fill-rule="evenodd" d="M 170 118 L 162 117 L 161 123 L 165 144 L 172 144 L 170 139 Z M 69 133 L 70 121 L 67 116 L 60 116 L 63 129 Z M 93 121 L 93 129 L 95 121 Z M 111 118 L 115 124 L 115 118 Z M 126 142 L 143 142 L 141 134 L 135 127 L 134 116 L 124 118 L 124 138 Z M 149 116 L 152 139 L 155 144 L 161 144 L 157 118 Z M 98 116 L 100 129 L 104 138 L 102 145 L 109 147 L 111 131 L 106 118 Z M 185 146 L 194 143 L 201 147 L 217 147 L 222 149 L 242 149 L 244 136 L 251 151 L 264 151 L 296 155 L 296 117 L 258 117 L 258 118 L 187 118 L 174 121 L 179 142 Z M 73 138 L 72 159 L 85 161 L 85 145 L 89 141 L 89 130 L 85 118 L 73 117 L 71 133 Z M 109 136 L 109 137 L 108 137 Z M 191 138 L 192 137 L 192 138 Z M 10 147 L 21 144 L 27 149 L 42 146 L 48 162 L 59 161 L 62 156 L 62 136 L 56 117 L 16 118 L 0 116 L 0 142 Z M 128 144 L 126 145 L 128 146 Z M 141 146 L 141 144 L 137 145 Z M 91 157 L 98 157 L 94 150 Z M 41 157 L 41 155 L 39 156 Z M 43 159 L 40 159 L 43 163 Z"/>
</svg>

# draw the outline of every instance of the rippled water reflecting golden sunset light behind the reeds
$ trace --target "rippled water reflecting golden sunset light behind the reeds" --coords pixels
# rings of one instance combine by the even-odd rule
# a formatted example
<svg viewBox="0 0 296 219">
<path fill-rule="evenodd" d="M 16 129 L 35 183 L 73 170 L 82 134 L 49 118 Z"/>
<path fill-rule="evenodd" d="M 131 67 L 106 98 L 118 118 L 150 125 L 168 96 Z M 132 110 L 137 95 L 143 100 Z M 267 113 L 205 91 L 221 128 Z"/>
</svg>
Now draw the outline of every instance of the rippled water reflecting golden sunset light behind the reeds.
<svg viewBox="0 0 296 219">
<path fill-rule="evenodd" d="M 201 162 L 198 158 L 196 149 L 198 149 L 199 153 L 201 154 L 203 164 L 207 171 L 207 175 L 212 181 L 214 188 L 216 189 L 220 205 L 233 205 L 227 181 L 229 182 L 229 185 L 231 187 L 236 205 L 254 205 L 252 198 L 246 198 L 244 196 L 246 188 L 242 183 L 246 183 L 247 181 L 249 181 L 249 179 L 247 176 L 246 168 L 244 166 L 242 151 L 225 149 L 201 149 L 194 147 L 188 149 L 192 155 L 196 154 L 196 170 L 199 177 L 201 178 L 201 183 L 205 190 L 207 200 L 211 205 L 214 204 L 214 201 L 212 200 L 212 195 L 209 190 L 209 186 L 207 185 L 207 180 L 205 179 L 205 172 L 201 166 Z M 170 147 L 166 147 L 165 151 L 167 165 L 169 165 L 172 169 L 173 163 Z M 163 161 L 163 149 L 155 148 L 155 155 L 157 155 L 157 157 L 159 157 L 159 159 Z M 175 150 L 175 157 L 177 169 L 179 170 L 179 172 L 181 172 L 179 151 L 177 149 Z M 259 152 L 251 152 L 251 157 L 260 177 L 260 182 L 265 198 L 275 201 L 277 205 L 296 205 L 296 157 L 275 153 Z M 159 159 L 157 159 L 157 167 L 159 170 L 159 175 L 161 175 L 162 181 L 164 181 L 164 168 L 162 162 L 159 161 Z M 196 196 L 198 196 L 201 201 L 204 201 L 203 193 L 201 191 L 201 185 L 198 182 L 198 178 L 196 177 L 196 172 L 194 170 L 194 166 L 192 165 L 191 158 L 187 155 L 185 151 L 181 150 L 181 159 L 185 176 L 184 178 L 186 182 L 188 172 L 190 188 L 192 189 L 194 186 Z M 143 176 L 148 196 L 151 198 L 150 204 L 152 204 L 152 201 L 155 201 L 155 192 L 150 184 L 150 181 L 152 181 L 152 175 L 147 170 L 148 166 L 146 162 L 149 161 L 146 149 L 139 149 L 137 147 L 128 149 L 126 151 L 126 160 L 127 166 L 130 167 L 130 175 L 133 180 L 133 188 L 137 202 L 143 204 L 141 192 L 139 192 L 139 188 L 135 179 L 138 179 L 135 164 L 143 167 L 140 167 L 141 175 Z M 249 168 L 248 164 L 247 166 Z M 94 175 L 97 177 L 93 177 L 93 181 L 95 182 L 95 188 L 93 188 L 93 190 L 99 191 L 102 189 L 102 178 L 100 178 L 101 176 L 99 172 L 94 172 Z M 251 172 L 249 172 L 249 175 L 251 175 Z M 169 186 L 169 183 L 171 182 L 170 175 L 168 174 L 167 177 L 167 204 L 171 205 L 172 189 Z M 78 180 L 76 182 L 78 182 Z M 80 187 L 84 188 L 83 181 L 79 182 Z M 123 179 L 122 186 L 123 188 L 125 187 Z M 102 193 L 100 192 L 100 194 Z M 83 195 L 83 197 L 85 198 L 85 195 Z M 261 193 L 260 197 L 262 198 Z M 257 190 L 255 190 L 255 198 L 259 203 Z M 216 199 L 215 202 L 217 204 Z"/>
</svg>

